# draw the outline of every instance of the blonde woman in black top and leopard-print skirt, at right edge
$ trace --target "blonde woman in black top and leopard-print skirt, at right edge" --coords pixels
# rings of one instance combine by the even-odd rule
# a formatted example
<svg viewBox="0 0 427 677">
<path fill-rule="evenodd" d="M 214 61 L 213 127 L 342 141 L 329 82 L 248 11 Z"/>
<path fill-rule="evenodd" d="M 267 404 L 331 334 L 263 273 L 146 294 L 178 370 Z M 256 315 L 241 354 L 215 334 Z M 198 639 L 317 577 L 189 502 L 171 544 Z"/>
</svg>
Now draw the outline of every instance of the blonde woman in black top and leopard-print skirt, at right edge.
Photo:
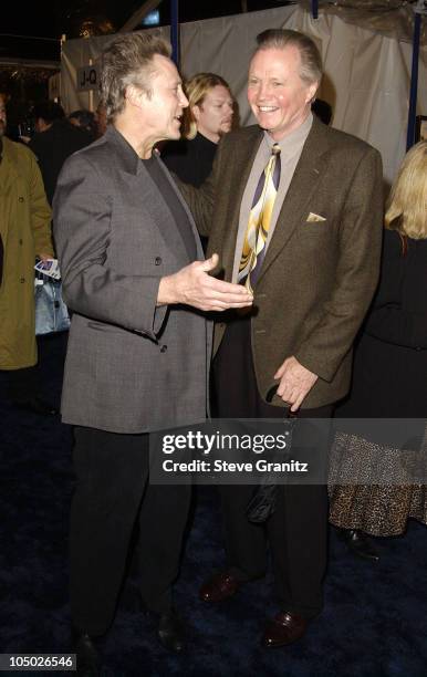
<svg viewBox="0 0 427 677">
<path fill-rule="evenodd" d="M 390 190 L 379 287 L 355 352 L 352 390 L 337 416 L 427 418 L 426 140 L 406 155 Z M 426 457 L 426 438 L 418 440 L 418 459 Z M 393 440 L 381 441 L 339 434 L 331 457 L 330 521 L 341 528 L 354 554 L 371 561 L 379 554 L 367 534 L 403 534 L 409 518 L 427 524 L 427 482 L 393 482 L 405 451 L 394 448 Z M 416 450 L 410 451 L 414 456 Z M 425 462 L 423 467 L 427 468 Z M 358 477 L 366 472 L 366 478 L 367 469 L 376 468 L 377 477 L 392 481 L 340 485 L 348 468 Z"/>
</svg>

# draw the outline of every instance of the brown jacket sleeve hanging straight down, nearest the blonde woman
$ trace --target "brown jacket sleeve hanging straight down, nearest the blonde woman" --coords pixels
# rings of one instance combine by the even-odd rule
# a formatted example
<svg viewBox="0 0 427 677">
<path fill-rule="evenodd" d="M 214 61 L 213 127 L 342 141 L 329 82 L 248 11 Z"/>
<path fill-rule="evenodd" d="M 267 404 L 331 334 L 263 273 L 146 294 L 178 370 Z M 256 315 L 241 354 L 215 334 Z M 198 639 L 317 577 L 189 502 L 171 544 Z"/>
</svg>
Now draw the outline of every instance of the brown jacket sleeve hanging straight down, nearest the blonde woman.
<svg viewBox="0 0 427 677">
<path fill-rule="evenodd" d="M 334 291 L 295 357 L 331 382 L 352 347 L 378 281 L 383 231 L 379 154 L 367 148 L 350 181 L 340 216 Z"/>
</svg>

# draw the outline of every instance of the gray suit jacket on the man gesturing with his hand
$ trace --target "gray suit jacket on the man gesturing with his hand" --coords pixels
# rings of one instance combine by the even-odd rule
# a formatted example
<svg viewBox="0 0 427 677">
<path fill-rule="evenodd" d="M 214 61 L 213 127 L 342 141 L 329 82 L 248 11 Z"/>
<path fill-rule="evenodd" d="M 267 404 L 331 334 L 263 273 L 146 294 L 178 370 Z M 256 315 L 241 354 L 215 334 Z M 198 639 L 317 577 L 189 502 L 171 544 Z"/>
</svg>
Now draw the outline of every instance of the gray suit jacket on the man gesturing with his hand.
<svg viewBox="0 0 427 677">
<path fill-rule="evenodd" d="M 156 308 L 160 278 L 189 256 L 144 163 L 114 127 L 65 163 L 54 235 L 73 311 L 63 420 L 128 434 L 204 420 L 210 323 L 188 306 Z"/>
</svg>

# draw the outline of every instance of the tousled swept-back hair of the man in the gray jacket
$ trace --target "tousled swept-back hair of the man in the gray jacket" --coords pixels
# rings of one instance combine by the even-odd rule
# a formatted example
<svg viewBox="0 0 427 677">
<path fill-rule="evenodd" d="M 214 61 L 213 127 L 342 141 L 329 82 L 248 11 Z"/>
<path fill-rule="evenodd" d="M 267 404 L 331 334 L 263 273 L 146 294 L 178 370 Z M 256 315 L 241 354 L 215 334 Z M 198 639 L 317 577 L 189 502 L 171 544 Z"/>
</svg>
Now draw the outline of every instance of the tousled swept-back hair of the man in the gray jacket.
<svg viewBox="0 0 427 677">
<path fill-rule="evenodd" d="M 101 97 L 108 122 L 125 106 L 126 87 L 134 85 L 153 94 L 150 80 L 156 73 L 153 58 L 170 58 L 170 44 L 159 33 L 127 33 L 105 49 L 101 64 Z"/>
</svg>

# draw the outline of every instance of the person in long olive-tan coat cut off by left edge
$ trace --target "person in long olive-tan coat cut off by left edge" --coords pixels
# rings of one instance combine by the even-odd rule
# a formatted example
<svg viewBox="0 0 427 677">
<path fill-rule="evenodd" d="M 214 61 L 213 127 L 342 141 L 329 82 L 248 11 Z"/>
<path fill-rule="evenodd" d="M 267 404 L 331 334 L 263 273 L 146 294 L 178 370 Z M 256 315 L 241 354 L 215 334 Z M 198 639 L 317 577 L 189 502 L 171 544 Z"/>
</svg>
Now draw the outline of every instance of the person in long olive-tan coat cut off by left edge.
<svg viewBox="0 0 427 677">
<path fill-rule="evenodd" d="M 45 413 L 37 398 L 33 267 L 35 257 L 53 257 L 51 209 L 35 156 L 4 136 L 6 101 L 0 93 L 0 369 L 9 372 L 14 404 Z"/>
</svg>

